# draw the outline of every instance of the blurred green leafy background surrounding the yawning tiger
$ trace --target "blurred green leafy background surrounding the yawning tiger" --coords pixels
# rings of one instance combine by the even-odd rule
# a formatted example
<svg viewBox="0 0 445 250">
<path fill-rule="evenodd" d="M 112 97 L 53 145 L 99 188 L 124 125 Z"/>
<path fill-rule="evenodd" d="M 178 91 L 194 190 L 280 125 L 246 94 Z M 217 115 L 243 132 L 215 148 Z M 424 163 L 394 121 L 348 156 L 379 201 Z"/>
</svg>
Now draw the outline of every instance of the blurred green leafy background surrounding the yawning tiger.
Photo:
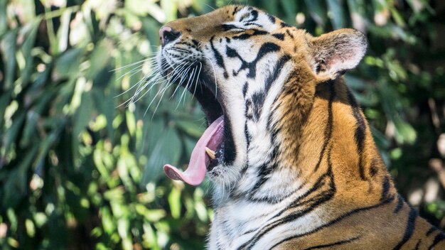
<svg viewBox="0 0 445 250">
<path fill-rule="evenodd" d="M 366 34 L 347 83 L 402 195 L 444 228 L 445 1 L 0 0 L 1 249 L 203 249 L 209 183 L 162 171 L 188 163 L 200 107 L 163 85 L 128 101 L 163 23 L 227 4 Z"/>
</svg>

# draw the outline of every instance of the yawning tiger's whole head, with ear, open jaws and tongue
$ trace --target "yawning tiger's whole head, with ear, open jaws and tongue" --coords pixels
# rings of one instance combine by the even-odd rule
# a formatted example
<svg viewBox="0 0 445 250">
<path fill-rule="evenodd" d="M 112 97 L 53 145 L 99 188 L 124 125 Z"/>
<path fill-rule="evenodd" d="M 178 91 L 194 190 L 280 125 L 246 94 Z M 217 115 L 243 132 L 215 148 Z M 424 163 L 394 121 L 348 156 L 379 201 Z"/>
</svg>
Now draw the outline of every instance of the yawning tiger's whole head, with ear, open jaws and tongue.
<svg viewBox="0 0 445 250">
<path fill-rule="evenodd" d="M 313 37 L 250 6 L 178 19 L 159 36 L 161 72 L 193 93 L 209 124 L 185 172 L 164 166 L 169 178 L 191 185 L 205 173 L 217 185 L 234 185 L 243 173 L 291 155 L 298 142 L 282 131 L 298 134 L 316 85 L 358 65 L 367 48 L 358 31 Z"/>
</svg>

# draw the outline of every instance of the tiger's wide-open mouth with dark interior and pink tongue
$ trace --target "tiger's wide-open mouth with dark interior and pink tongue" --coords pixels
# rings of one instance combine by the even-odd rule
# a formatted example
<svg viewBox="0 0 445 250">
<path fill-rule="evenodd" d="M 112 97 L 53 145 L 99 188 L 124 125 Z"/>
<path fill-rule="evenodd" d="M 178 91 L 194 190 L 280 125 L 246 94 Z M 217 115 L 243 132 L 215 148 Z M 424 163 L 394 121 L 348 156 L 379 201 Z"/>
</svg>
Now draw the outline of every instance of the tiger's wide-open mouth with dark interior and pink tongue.
<svg viewBox="0 0 445 250">
<path fill-rule="evenodd" d="M 188 89 L 194 89 L 191 92 L 203 108 L 209 126 L 193 148 L 188 168 L 185 171 L 170 164 L 163 166 L 168 178 L 182 180 L 190 185 L 199 185 L 203 182 L 205 173 L 220 163 L 234 158 L 232 135 L 227 117 L 223 112 L 223 105 L 218 100 L 220 98 L 215 95 L 215 82 L 210 80 L 205 73 L 200 76 L 200 80 L 198 86 L 194 86 L 198 84 L 198 81 L 193 80 L 192 87 Z M 227 148 L 230 150 L 225 150 Z"/>
</svg>

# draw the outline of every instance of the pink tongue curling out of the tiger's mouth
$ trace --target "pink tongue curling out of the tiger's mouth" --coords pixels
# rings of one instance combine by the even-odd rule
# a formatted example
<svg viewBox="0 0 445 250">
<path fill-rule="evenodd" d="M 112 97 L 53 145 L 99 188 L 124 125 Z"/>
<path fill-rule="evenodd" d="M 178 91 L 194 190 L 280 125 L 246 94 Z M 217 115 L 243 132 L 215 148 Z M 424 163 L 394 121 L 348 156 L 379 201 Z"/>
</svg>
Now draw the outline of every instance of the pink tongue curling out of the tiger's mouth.
<svg viewBox="0 0 445 250">
<path fill-rule="evenodd" d="M 207 156 L 207 153 L 205 153 L 205 147 L 213 151 L 216 150 L 223 142 L 223 127 L 224 117 L 220 116 L 205 129 L 203 136 L 201 136 L 195 148 L 193 148 L 190 162 L 185 172 L 178 170 L 178 168 L 173 167 L 173 165 L 164 165 L 163 171 L 168 178 L 172 180 L 182 180 L 190 185 L 200 185 L 205 178 L 207 165 L 210 162 L 210 158 Z"/>
</svg>

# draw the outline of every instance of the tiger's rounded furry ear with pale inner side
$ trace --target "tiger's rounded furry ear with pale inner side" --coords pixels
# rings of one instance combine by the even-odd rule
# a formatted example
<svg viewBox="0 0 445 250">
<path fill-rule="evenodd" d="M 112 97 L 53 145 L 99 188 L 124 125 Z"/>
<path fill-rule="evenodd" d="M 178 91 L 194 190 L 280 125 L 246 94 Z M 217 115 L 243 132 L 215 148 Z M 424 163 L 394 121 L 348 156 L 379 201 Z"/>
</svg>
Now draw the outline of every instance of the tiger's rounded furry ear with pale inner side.
<svg viewBox="0 0 445 250">
<path fill-rule="evenodd" d="M 368 48 L 363 33 L 350 28 L 311 38 L 313 71 L 318 76 L 336 78 L 362 60 Z"/>
</svg>

